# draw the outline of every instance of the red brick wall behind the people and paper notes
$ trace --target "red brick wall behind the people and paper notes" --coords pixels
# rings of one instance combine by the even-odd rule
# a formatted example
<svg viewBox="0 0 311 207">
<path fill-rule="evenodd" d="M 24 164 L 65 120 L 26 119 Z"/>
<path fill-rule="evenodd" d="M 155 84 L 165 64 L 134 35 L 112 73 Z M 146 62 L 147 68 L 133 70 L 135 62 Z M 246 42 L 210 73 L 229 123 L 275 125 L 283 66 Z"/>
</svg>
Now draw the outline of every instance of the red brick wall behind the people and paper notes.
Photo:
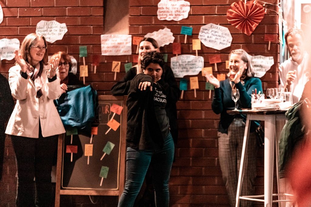
<svg viewBox="0 0 311 207">
<path fill-rule="evenodd" d="M 241 34 L 234 26 L 229 25 L 226 11 L 234 0 L 188 0 L 191 9 L 187 19 L 176 21 L 160 21 L 157 19 L 157 4 L 160 0 L 129 0 L 129 33 L 133 36 L 144 36 L 146 33 L 163 29 L 171 29 L 175 42 L 182 43 L 183 54 L 195 54 L 191 50 L 192 38 L 197 39 L 200 27 L 214 23 L 229 28 L 233 41 L 231 47 L 223 50 L 207 48 L 202 44 L 199 56 L 208 63 L 208 55 L 220 54 L 223 63 L 217 64 L 218 73 L 226 73 L 225 60 L 232 49 L 242 48 L 252 55 L 273 56 L 275 62 L 279 60 L 279 44 L 272 43 L 270 51 L 264 34 L 277 34 L 278 25 L 276 13 L 267 11 L 262 22 L 251 36 Z M 265 0 L 277 3 L 278 0 Z M 103 34 L 103 1 L 100 0 L 3 0 L 0 2 L 4 19 L 0 24 L 0 38 L 18 38 L 20 41 L 32 32 L 40 20 L 56 20 L 66 23 L 68 32 L 63 40 L 49 44 L 48 52 L 53 54 L 63 50 L 73 55 L 79 64 L 79 46 L 87 46 L 89 56 L 86 63 L 91 67 L 91 55 L 100 54 L 100 34 Z M 276 10 L 274 6 L 266 6 Z M 114 8 L 111 8 L 114 9 Z M 181 25 L 192 26 L 193 36 L 184 44 L 184 35 L 180 35 Z M 133 47 L 136 51 L 136 46 Z M 172 44 L 161 48 L 161 52 L 172 57 Z M 117 74 L 117 81 L 124 76 L 123 64 L 132 62 L 131 56 L 101 56 L 97 74 L 89 73 L 86 84 L 91 84 L 100 95 L 109 95 L 114 81 L 111 72 L 112 61 L 121 61 L 121 72 Z M 0 72 L 7 75 L 14 61 L 3 61 Z M 214 73 L 215 75 L 216 73 Z M 265 76 L 261 78 L 263 89 L 276 87 L 277 64 L 274 64 Z M 186 78 L 188 78 L 186 76 Z M 198 75 L 200 89 L 197 98 L 193 91 L 185 91 L 182 101 L 178 101 L 178 118 L 180 139 L 177 147 L 177 158 L 173 165 L 170 179 L 170 203 L 174 207 L 185 206 L 228 206 L 224 183 L 218 160 L 217 126 L 219 115 L 211 111 L 211 99 L 205 88 L 205 80 Z M 179 81 L 179 79 L 178 79 Z M 3 178 L 0 183 L 0 206 L 13 206 L 16 193 L 16 167 L 11 142 L 6 140 L 5 163 Z M 256 179 L 256 193 L 263 193 L 263 150 L 258 153 L 258 177 Z M 62 203 L 72 203 L 75 206 L 93 206 L 87 196 L 62 196 Z M 116 206 L 117 199 L 111 196 L 100 197 L 99 206 Z M 259 205 L 262 205 L 259 203 Z"/>
</svg>

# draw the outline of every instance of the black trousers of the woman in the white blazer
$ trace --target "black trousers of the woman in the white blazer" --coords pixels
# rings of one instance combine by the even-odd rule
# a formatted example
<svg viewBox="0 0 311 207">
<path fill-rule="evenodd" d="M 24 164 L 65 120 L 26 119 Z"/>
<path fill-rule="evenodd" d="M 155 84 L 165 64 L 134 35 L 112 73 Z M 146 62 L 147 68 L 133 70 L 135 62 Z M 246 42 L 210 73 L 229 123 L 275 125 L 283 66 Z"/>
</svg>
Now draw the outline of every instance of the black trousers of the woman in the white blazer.
<svg viewBox="0 0 311 207">
<path fill-rule="evenodd" d="M 39 138 L 12 135 L 11 139 L 17 167 L 16 206 L 51 206 L 51 171 L 58 135 L 42 137 L 39 130 Z"/>
</svg>

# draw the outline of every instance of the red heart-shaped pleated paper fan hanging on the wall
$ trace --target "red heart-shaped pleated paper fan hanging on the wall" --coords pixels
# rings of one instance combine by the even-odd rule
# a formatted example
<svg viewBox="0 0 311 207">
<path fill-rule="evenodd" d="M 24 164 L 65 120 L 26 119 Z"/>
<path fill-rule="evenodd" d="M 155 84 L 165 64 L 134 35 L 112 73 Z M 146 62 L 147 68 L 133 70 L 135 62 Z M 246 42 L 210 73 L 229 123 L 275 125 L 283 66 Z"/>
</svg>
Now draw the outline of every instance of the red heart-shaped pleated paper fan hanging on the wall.
<svg viewBox="0 0 311 207">
<path fill-rule="evenodd" d="M 234 2 L 227 11 L 229 23 L 248 36 L 253 33 L 264 16 L 265 8 L 256 1 L 249 1 L 246 4 L 243 1 Z"/>
</svg>

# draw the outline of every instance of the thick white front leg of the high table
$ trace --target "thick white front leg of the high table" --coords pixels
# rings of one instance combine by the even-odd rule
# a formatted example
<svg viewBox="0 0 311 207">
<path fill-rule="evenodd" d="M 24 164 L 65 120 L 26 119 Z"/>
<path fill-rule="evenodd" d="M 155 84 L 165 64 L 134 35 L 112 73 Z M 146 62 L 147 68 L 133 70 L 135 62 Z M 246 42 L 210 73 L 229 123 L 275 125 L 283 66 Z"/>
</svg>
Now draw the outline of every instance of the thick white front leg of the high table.
<svg viewBox="0 0 311 207">
<path fill-rule="evenodd" d="M 272 206 L 273 162 L 275 143 L 276 116 L 266 116 L 265 119 L 265 155 L 264 155 L 264 201 L 265 207 Z"/>
</svg>

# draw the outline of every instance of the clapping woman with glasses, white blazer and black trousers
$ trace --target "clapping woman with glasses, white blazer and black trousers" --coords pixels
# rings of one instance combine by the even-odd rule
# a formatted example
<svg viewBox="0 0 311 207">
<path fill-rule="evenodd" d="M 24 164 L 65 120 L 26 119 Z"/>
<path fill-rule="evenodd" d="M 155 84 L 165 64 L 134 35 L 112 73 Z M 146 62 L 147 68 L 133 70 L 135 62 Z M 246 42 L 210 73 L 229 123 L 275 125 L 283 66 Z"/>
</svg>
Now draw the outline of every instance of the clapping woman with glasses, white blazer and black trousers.
<svg viewBox="0 0 311 207">
<path fill-rule="evenodd" d="M 45 38 L 29 34 L 9 70 L 17 101 L 5 133 L 11 135 L 16 156 L 16 206 L 50 206 L 52 201 L 53 155 L 65 129 L 53 103 L 61 95 L 58 60 L 48 65 L 47 52 Z"/>
</svg>

